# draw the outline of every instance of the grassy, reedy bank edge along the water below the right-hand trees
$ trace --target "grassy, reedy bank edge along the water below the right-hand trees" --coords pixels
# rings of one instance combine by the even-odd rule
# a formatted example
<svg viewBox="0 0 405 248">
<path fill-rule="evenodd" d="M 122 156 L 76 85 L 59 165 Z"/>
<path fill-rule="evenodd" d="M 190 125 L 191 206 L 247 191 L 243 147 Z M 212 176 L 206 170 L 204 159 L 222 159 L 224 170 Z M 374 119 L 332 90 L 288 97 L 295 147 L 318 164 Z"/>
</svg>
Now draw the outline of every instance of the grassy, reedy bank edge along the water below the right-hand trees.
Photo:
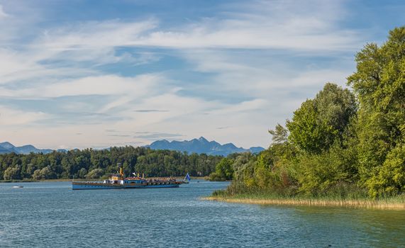
<svg viewBox="0 0 405 248">
<path fill-rule="evenodd" d="M 252 194 L 236 194 L 233 196 L 226 196 L 217 194 L 216 196 L 209 196 L 203 199 L 209 201 L 224 201 L 228 203 L 247 203 L 259 205 L 309 205 L 320 207 L 405 210 L 405 195 L 371 200 L 367 198 L 305 198 L 301 196 L 282 197 Z"/>
</svg>

